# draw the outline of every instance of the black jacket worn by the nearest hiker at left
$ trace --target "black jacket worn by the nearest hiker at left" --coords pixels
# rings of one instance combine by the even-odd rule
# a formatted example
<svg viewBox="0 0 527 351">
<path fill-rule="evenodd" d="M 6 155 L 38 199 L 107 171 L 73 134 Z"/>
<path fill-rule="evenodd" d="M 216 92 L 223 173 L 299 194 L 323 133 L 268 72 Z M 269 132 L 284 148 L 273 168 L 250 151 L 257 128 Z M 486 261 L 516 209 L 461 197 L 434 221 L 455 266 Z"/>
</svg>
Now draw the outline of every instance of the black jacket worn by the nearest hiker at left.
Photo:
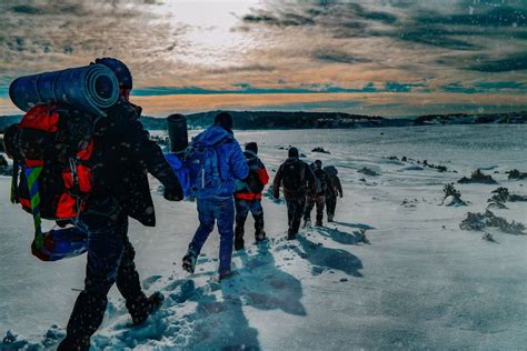
<svg viewBox="0 0 527 351">
<path fill-rule="evenodd" d="M 98 211 L 115 198 L 126 214 L 148 227 L 156 225 L 148 173 L 166 188 L 181 188 L 156 142 L 139 120 L 141 108 L 120 99 L 95 127 L 93 189 L 87 210 Z M 105 205 L 105 204 L 102 204 Z"/>
</svg>

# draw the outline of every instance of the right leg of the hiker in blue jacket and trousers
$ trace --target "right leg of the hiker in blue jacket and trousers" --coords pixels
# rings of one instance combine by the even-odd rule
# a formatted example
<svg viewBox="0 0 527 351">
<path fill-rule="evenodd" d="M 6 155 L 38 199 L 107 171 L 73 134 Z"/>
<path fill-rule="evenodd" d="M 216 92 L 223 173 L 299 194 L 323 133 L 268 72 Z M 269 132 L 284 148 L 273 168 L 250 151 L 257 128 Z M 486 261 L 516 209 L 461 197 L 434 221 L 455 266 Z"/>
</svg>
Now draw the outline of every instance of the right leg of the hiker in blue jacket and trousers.
<svg viewBox="0 0 527 351">
<path fill-rule="evenodd" d="M 235 203 L 232 198 L 216 201 L 215 217 L 218 221 L 218 232 L 220 234 L 219 269 L 220 277 L 230 272 L 230 261 L 232 258 L 232 238 L 235 232 Z"/>
</svg>

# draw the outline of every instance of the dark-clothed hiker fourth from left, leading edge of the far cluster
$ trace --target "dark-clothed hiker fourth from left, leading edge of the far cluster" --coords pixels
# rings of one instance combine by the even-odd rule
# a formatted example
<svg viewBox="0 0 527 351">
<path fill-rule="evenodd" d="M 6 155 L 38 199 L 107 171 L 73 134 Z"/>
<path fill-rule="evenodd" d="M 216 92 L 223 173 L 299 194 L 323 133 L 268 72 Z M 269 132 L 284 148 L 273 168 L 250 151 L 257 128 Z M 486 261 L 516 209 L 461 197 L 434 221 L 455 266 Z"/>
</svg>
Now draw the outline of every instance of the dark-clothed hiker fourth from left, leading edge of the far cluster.
<svg viewBox="0 0 527 351">
<path fill-rule="evenodd" d="M 287 203 L 288 231 L 287 239 L 297 237 L 306 205 L 306 194 L 315 192 L 315 174 L 309 166 L 298 157 L 298 149 L 290 148 L 288 159 L 280 164 L 272 182 L 272 195 L 280 198 L 280 187 L 284 185 L 284 198 Z"/>
</svg>

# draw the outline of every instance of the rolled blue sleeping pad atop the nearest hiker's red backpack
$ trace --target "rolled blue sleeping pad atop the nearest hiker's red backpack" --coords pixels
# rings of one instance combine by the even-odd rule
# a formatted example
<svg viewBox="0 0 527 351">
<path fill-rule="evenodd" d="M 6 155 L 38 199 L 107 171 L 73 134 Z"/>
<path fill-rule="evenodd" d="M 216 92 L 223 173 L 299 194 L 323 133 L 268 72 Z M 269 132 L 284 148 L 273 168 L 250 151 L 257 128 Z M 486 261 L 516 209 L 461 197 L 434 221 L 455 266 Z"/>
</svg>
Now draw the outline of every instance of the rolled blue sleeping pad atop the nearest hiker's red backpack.
<svg viewBox="0 0 527 351">
<path fill-rule="evenodd" d="M 93 116 L 106 116 L 119 98 L 116 74 L 103 64 L 17 78 L 9 87 L 11 101 L 22 111 L 38 103 L 66 103 Z"/>
</svg>

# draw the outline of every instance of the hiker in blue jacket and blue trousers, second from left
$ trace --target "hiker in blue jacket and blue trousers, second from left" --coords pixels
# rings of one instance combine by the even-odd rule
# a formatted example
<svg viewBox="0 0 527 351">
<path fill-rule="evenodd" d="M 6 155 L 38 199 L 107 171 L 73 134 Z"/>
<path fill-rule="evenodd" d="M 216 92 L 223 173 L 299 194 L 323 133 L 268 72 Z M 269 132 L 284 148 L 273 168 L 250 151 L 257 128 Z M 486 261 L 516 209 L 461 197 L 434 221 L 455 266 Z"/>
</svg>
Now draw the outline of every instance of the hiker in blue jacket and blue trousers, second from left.
<svg viewBox="0 0 527 351">
<path fill-rule="evenodd" d="M 190 192 L 197 200 L 199 227 L 183 257 L 182 267 L 193 273 L 201 248 L 217 222 L 220 235 L 218 273 L 219 280 L 222 280 L 232 274 L 235 184 L 237 179 L 247 178 L 249 167 L 233 137 L 232 117 L 227 112 L 217 114 L 215 123 L 195 137 L 189 148 Z"/>
</svg>

